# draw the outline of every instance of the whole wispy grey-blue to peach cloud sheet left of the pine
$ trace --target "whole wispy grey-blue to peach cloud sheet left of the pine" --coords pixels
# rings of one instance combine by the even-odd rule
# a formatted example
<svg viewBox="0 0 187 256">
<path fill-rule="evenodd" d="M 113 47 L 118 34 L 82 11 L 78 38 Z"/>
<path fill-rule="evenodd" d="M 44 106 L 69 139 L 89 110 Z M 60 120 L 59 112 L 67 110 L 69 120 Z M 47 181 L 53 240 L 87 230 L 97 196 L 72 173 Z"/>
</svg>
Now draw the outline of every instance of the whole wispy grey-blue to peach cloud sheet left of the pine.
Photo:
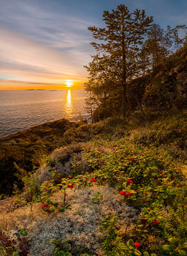
<svg viewBox="0 0 187 256">
<path fill-rule="evenodd" d="M 3 3 L 1 75 L 39 83 L 86 78 L 83 65 L 88 63 L 92 50 L 89 24 L 81 18 L 49 12 L 36 3 L 20 0 Z"/>
</svg>

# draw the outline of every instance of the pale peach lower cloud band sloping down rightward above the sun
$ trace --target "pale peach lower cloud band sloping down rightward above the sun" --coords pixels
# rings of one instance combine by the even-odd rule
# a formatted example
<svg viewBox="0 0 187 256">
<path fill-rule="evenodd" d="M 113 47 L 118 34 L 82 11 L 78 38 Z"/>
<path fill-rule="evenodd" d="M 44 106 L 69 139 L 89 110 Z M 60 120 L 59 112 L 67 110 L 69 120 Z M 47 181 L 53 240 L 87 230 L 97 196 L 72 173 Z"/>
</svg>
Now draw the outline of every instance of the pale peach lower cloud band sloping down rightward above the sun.
<svg viewBox="0 0 187 256">
<path fill-rule="evenodd" d="M 61 51 L 18 32 L 0 28 L 0 70 L 3 75 L 28 80 L 85 78 L 86 53 Z"/>
</svg>

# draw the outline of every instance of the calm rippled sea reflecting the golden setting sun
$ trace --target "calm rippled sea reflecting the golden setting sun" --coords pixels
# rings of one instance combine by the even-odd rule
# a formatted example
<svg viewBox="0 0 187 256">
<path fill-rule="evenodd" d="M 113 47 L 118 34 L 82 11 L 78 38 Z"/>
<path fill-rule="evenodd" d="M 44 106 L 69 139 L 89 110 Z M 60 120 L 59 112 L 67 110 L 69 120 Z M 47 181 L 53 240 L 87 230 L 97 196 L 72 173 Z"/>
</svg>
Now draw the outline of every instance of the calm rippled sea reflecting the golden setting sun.
<svg viewBox="0 0 187 256">
<path fill-rule="evenodd" d="M 88 119 L 85 91 L 0 91 L 0 138 L 60 118 Z"/>
</svg>

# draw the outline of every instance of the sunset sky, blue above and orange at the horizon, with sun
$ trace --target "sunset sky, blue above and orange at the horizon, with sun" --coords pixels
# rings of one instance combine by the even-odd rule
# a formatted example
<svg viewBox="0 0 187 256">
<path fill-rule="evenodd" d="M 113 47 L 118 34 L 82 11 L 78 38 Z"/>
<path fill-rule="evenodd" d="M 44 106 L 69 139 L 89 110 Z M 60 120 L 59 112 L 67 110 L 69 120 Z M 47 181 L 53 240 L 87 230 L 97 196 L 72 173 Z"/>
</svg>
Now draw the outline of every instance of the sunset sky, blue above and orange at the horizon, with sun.
<svg viewBox="0 0 187 256">
<path fill-rule="evenodd" d="M 0 90 L 82 89 L 104 10 L 145 10 L 163 29 L 187 24 L 186 0 L 0 0 Z"/>
</svg>

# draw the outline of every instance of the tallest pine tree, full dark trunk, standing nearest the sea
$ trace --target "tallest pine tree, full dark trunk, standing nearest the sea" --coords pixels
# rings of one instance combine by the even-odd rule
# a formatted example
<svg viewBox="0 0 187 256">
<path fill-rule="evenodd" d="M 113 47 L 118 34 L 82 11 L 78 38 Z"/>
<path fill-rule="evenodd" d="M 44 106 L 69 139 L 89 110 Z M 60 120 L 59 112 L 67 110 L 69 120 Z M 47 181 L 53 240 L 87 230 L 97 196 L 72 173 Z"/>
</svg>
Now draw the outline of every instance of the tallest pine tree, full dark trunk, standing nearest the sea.
<svg viewBox="0 0 187 256">
<path fill-rule="evenodd" d="M 99 72 L 99 79 L 103 74 L 115 78 L 118 87 L 121 88 L 119 92 L 121 115 L 125 117 L 128 107 L 127 83 L 137 73 L 135 56 L 137 56 L 144 35 L 153 18 L 146 17 L 144 10 L 135 10 L 130 13 L 128 7 L 121 4 L 111 13 L 104 11 L 103 20 L 106 24 L 103 29 L 95 26 L 88 27 L 88 30 L 93 33 L 93 38 L 102 41 L 100 43 L 91 42 L 98 55 L 93 56 L 93 61 L 87 67 L 88 72 L 90 72 L 88 84 L 91 86 L 92 69 L 94 69 L 94 75 Z M 97 68 L 94 67 L 94 64 Z M 97 81 L 99 82 L 99 80 Z"/>
</svg>

